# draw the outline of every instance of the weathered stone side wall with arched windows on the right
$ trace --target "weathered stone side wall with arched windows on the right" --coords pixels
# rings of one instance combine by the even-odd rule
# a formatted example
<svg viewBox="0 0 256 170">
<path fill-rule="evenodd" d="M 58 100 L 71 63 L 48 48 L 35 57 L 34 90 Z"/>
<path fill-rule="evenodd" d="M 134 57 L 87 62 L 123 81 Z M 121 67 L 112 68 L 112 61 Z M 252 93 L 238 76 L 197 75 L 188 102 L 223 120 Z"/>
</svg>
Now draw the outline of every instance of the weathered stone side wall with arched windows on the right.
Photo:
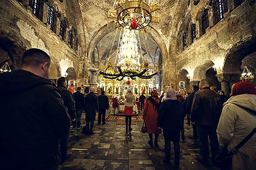
<svg viewBox="0 0 256 170">
<path fill-rule="evenodd" d="M 254 46 L 256 43 L 255 1 L 245 1 L 234 8 L 233 0 L 228 0 L 228 12 L 218 23 L 214 21 L 213 3 L 215 1 L 212 3 L 200 1 L 194 5 L 191 1 L 190 7 L 184 14 L 185 18 L 180 18 L 185 22 L 181 23 L 175 36 L 175 48 L 170 51 L 171 55 L 175 54 L 177 72 L 187 70 L 192 80 L 204 79 L 206 71 L 214 65 L 220 68 L 218 74 L 241 74 L 242 59 L 256 51 Z M 210 27 L 206 29 L 205 34 L 202 34 L 200 18 L 204 9 L 209 11 Z M 186 17 L 189 20 L 186 20 Z M 191 41 L 192 23 L 197 24 L 197 38 L 193 43 Z M 188 45 L 183 47 L 181 35 L 185 32 L 188 35 Z"/>
</svg>

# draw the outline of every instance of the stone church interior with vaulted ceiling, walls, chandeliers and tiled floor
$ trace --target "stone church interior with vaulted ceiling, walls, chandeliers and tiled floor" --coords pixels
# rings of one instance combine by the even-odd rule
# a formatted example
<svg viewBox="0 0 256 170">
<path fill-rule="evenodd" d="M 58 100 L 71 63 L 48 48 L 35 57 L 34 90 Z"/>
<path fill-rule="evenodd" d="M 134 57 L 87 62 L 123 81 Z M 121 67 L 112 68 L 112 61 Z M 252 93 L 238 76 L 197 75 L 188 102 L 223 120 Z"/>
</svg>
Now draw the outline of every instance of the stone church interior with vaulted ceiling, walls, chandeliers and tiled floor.
<svg viewBox="0 0 256 170">
<path fill-rule="evenodd" d="M 227 96 L 238 81 L 256 85 L 255 0 L 2 0 L 0 9 L 1 73 L 39 48 L 51 57 L 53 83 L 65 77 L 74 91 L 93 86 L 109 98 L 168 88 L 186 97 L 202 79 Z M 172 169 L 160 163 L 163 137 L 150 148 L 136 123 L 130 136 L 113 122 L 87 138 L 71 130 L 74 154 L 60 169 Z M 194 160 L 197 144 L 181 151 L 180 169 L 217 169 Z"/>
</svg>

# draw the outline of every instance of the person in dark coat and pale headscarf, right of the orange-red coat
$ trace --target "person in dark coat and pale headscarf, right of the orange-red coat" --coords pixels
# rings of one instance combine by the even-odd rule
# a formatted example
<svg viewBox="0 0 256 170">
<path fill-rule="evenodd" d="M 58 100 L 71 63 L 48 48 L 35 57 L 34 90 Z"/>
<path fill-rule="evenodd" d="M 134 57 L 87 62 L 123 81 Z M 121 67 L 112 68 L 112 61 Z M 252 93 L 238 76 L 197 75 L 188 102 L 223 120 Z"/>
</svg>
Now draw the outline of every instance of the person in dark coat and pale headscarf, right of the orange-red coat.
<svg viewBox="0 0 256 170">
<path fill-rule="evenodd" d="M 175 154 L 174 162 L 176 167 L 179 167 L 179 139 L 183 114 L 184 106 L 177 100 L 176 91 L 174 89 L 169 89 L 166 94 L 166 99 L 160 107 L 157 118 L 157 127 L 163 129 L 164 151 L 166 156 L 162 161 L 167 165 L 170 165 L 170 141 L 173 141 Z"/>
</svg>

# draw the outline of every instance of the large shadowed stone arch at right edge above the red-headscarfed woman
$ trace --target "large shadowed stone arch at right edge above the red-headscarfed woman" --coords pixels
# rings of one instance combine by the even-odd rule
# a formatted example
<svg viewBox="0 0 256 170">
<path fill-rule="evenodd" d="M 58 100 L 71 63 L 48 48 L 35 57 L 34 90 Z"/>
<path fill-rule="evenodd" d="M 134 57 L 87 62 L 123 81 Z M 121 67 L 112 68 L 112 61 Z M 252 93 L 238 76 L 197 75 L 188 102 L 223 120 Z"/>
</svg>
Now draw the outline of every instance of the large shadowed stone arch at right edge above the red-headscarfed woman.
<svg viewBox="0 0 256 170">
<path fill-rule="evenodd" d="M 229 52 L 225 56 L 223 73 L 240 74 L 240 66 L 242 59 L 247 55 L 256 52 L 256 37 L 250 36 L 244 40 L 236 42 L 235 45 L 230 48 Z"/>
</svg>

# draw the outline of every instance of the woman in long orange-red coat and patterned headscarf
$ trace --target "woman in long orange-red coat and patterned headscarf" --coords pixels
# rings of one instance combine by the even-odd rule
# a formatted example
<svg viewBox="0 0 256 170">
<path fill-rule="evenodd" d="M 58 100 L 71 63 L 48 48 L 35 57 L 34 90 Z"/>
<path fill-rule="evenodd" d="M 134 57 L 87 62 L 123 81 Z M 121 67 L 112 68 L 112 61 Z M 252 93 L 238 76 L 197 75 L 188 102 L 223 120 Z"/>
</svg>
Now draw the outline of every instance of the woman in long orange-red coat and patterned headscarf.
<svg viewBox="0 0 256 170">
<path fill-rule="evenodd" d="M 158 97 L 156 90 L 151 92 L 151 97 L 146 99 L 143 111 L 143 119 L 145 120 L 146 128 L 149 134 L 149 144 L 153 146 L 153 134 L 155 134 L 155 147 L 159 147 L 157 138 L 162 133 L 161 129 L 157 128 L 157 117 L 161 105 L 161 99 Z"/>
</svg>

